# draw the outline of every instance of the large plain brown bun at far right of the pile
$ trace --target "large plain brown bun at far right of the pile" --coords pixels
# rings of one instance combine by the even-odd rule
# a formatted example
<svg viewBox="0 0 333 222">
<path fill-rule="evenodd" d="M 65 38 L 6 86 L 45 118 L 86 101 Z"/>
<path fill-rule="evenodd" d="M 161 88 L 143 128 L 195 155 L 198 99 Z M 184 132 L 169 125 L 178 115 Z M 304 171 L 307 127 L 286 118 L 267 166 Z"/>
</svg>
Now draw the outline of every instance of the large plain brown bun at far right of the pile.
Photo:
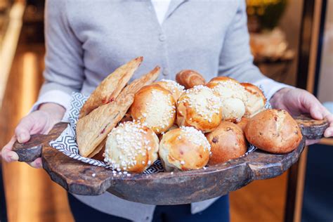
<svg viewBox="0 0 333 222">
<path fill-rule="evenodd" d="M 257 148 L 273 153 L 291 152 L 302 139 L 299 125 L 285 110 L 259 112 L 249 119 L 245 136 Z"/>
</svg>

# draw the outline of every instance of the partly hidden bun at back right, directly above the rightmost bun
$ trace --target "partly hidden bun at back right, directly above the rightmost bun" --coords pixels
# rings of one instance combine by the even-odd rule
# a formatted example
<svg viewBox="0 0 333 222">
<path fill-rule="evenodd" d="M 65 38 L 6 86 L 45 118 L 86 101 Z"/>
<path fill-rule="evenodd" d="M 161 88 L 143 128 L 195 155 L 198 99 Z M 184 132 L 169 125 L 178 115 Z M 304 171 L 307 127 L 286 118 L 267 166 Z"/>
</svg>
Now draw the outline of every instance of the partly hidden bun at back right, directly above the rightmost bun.
<svg viewBox="0 0 333 222">
<path fill-rule="evenodd" d="M 241 83 L 247 93 L 247 105 L 244 117 L 251 118 L 265 109 L 266 97 L 257 86 L 249 83 Z"/>
</svg>

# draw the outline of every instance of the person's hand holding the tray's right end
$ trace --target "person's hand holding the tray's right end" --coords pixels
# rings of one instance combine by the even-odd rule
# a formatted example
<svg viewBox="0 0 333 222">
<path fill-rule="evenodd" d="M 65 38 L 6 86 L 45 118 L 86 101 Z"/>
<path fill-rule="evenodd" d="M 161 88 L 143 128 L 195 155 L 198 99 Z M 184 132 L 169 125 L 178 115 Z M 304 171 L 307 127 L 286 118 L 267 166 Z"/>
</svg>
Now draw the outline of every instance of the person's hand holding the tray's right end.
<svg viewBox="0 0 333 222">
<path fill-rule="evenodd" d="M 309 113 L 313 119 L 327 119 L 329 127 L 325 130 L 324 136 L 333 136 L 332 113 L 308 91 L 303 89 L 281 89 L 270 98 L 270 104 L 275 109 L 287 110 L 291 115 Z M 318 143 L 318 141 L 306 141 L 306 145 L 313 143 Z"/>
</svg>

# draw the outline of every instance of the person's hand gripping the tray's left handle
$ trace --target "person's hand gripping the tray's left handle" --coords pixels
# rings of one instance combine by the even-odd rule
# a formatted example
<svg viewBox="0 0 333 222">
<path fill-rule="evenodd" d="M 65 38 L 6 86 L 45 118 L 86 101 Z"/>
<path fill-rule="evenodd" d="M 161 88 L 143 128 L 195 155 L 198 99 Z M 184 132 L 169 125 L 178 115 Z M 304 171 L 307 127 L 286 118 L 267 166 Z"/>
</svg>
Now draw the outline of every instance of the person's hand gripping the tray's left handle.
<svg viewBox="0 0 333 222">
<path fill-rule="evenodd" d="M 30 140 L 30 135 L 48 133 L 56 124 L 60 122 L 65 113 L 65 109 L 55 103 L 44 103 L 39 107 L 39 110 L 34 111 L 23 117 L 18 126 L 16 126 L 15 134 L 4 148 L 1 150 L 1 157 L 6 162 L 18 160 L 18 154 L 13 152 L 13 144 L 16 140 L 19 143 L 26 143 Z M 37 158 L 34 162 L 28 163 L 35 168 L 41 168 L 41 158 Z"/>
</svg>

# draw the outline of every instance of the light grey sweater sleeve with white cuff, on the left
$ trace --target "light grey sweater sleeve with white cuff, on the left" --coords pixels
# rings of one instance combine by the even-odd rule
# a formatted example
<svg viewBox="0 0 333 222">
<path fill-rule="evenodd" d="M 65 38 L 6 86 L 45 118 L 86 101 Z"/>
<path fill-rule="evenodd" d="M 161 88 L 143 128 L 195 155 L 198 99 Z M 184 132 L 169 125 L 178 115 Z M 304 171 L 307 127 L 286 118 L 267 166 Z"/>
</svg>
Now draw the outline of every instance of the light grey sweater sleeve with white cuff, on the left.
<svg viewBox="0 0 333 222">
<path fill-rule="evenodd" d="M 46 1 L 45 40 L 45 81 L 39 100 L 50 91 L 63 92 L 59 96 L 80 91 L 84 82 L 83 50 L 67 20 L 66 0 Z M 59 99 L 48 99 L 48 102 L 59 104 Z"/>
</svg>

